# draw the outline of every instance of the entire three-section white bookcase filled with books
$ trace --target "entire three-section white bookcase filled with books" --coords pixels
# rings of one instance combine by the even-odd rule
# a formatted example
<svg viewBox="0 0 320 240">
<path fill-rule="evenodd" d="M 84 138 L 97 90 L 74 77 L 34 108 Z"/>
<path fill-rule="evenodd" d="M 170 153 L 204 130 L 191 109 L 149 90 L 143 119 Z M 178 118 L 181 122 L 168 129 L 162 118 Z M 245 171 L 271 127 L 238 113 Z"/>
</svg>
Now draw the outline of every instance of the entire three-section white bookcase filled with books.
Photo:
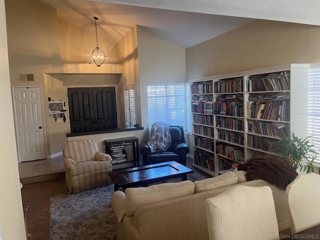
<svg viewBox="0 0 320 240">
<path fill-rule="evenodd" d="M 287 129 L 306 136 L 308 68 L 288 64 L 189 80 L 193 166 L 215 176 L 271 153 Z"/>
</svg>

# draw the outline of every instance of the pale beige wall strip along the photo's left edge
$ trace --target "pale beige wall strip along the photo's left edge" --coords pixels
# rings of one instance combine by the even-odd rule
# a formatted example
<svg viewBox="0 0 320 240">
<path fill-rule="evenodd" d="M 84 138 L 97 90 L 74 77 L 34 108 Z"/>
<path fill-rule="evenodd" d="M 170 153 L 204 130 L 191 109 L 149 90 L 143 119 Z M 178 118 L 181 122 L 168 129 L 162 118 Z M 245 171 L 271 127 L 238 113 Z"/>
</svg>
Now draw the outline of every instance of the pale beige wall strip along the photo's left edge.
<svg viewBox="0 0 320 240">
<path fill-rule="evenodd" d="M 4 1 L 0 0 L 0 223 L 2 239 L 25 239 L 19 172 L 13 125 Z"/>
</svg>

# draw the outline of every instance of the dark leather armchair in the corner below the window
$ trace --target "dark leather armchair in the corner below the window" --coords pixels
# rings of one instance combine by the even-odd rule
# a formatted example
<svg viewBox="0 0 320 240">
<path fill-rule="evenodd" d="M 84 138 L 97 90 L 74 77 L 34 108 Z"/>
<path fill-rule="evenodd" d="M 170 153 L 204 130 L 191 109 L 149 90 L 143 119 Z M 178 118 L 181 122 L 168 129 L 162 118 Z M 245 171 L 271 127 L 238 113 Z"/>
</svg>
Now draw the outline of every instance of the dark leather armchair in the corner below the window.
<svg viewBox="0 0 320 240">
<path fill-rule="evenodd" d="M 165 151 L 151 153 L 148 145 L 144 145 L 140 148 L 143 165 L 165 161 L 176 161 L 185 166 L 186 154 L 189 152 L 189 147 L 185 144 L 183 127 L 170 126 L 169 131 L 171 136 L 171 145 Z"/>
</svg>

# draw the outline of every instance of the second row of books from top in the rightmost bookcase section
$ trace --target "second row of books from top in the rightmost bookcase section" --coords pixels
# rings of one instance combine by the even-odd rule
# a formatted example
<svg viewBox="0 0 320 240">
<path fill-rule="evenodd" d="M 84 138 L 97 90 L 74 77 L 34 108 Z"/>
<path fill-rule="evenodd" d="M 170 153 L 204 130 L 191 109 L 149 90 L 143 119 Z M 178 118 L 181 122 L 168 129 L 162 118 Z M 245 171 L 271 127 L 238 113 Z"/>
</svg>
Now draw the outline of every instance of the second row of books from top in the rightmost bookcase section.
<svg viewBox="0 0 320 240">
<path fill-rule="evenodd" d="M 248 117 L 256 119 L 268 119 L 278 121 L 289 121 L 290 101 L 268 101 L 265 103 L 248 102 Z"/>
</svg>

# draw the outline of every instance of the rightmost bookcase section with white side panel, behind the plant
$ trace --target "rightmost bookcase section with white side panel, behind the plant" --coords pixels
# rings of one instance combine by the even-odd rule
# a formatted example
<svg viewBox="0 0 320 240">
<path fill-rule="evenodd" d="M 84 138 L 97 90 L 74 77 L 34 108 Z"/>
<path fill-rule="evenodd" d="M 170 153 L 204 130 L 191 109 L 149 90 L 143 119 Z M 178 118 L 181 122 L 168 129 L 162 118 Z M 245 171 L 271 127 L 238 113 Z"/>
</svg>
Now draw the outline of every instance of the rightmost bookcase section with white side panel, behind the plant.
<svg viewBox="0 0 320 240">
<path fill-rule="evenodd" d="M 308 67 L 289 64 L 243 72 L 246 159 L 272 153 L 287 129 L 307 135 Z"/>
</svg>

